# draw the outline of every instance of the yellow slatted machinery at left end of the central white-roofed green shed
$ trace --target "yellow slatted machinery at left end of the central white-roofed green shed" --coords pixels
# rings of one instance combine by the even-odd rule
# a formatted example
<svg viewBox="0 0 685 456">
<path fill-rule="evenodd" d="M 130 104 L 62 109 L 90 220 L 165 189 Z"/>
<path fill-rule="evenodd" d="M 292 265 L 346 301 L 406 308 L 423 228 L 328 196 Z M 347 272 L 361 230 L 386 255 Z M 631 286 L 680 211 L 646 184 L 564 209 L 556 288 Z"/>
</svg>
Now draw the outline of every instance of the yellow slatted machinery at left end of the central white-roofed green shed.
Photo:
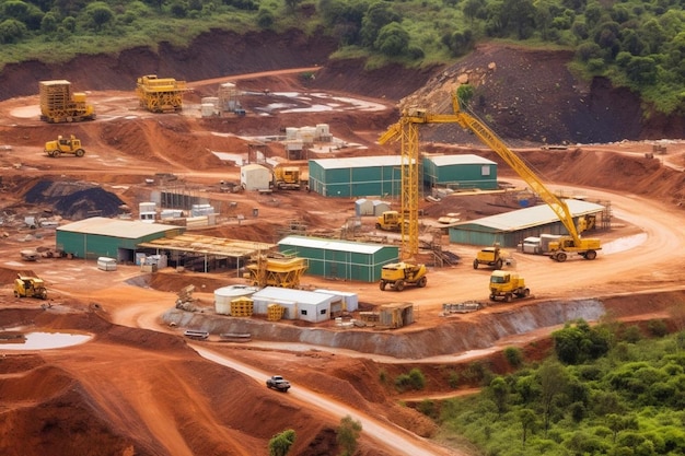
<svg viewBox="0 0 685 456">
<path fill-rule="evenodd" d="M 304 258 L 267 258 L 259 254 L 246 269 L 245 278 L 253 287 L 297 289 L 306 270 L 306 262 Z"/>
</svg>

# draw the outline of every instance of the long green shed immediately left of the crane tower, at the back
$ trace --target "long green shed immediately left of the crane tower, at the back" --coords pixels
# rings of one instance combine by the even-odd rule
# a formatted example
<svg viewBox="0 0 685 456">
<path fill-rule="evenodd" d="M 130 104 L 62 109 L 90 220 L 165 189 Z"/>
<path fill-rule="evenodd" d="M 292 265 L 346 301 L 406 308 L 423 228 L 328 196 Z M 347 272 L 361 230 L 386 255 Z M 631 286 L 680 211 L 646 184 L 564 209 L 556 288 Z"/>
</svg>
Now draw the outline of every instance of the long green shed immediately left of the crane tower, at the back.
<svg viewBox="0 0 685 456">
<path fill-rule="evenodd" d="M 398 196 L 398 155 L 310 160 L 310 190 L 325 197 Z"/>
</svg>

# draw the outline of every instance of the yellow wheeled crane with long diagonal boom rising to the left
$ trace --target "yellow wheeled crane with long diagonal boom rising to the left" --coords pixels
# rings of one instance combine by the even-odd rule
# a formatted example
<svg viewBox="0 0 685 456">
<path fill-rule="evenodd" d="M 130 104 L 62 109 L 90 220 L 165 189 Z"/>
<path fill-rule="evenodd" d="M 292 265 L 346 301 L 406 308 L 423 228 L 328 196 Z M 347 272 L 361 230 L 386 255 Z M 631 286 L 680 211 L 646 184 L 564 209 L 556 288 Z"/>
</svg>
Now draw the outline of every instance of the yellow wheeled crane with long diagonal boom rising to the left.
<svg viewBox="0 0 685 456">
<path fill-rule="evenodd" d="M 602 244 L 597 238 L 581 238 L 580 232 L 587 227 L 584 218 L 581 218 L 579 229 L 576 227 L 573 222 L 573 215 L 568 208 L 568 204 L 555 194 L 549 191 L 542 180 L 533 173 L 526 164 L 516 155 L 513 151 L 509 150 L 504 143 L 485 126 L 480 120 L 474 116 L 461 110 L 458 97 L 456 93 L 452 94 L 452 107 L 454 115 L 446 116 L 455 118 L 456 121 L 464 128 L 471 130 L 483 141 L 486 145 L 492 149 L 509 166 L 511 166 L 523 178 L 531 189 L 535 191 L 539 197 L 552 208 L 557 218 L 561 221 L 568 236 L 562 236 L 558 242 L 553 242 L 549 245 L 549 256 L 556 261 L 566 261 L 568 254 L 578 254 L 585 259 L 595 259 L 597 252 L 602 248 Z M 445 116 L 438 116 L 445 117 Z"/>
</svg>

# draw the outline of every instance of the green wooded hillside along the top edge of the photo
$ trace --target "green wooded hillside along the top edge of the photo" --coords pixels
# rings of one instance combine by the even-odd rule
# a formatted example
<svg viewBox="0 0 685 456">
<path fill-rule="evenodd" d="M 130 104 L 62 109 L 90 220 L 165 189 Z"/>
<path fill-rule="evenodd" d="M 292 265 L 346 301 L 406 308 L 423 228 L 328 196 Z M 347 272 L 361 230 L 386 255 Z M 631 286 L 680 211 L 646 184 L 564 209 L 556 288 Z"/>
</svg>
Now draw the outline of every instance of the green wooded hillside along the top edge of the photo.
<svg viewBox="0 0 685 456">
<path fill-rule="evenodd" d="M 0 0 L 0 65 L 63 61 L 212 28 L 325 31 L 370 66 L 449 62 L 485 39 L 576 51 L 576 68 L 685 114 L 683 0 Z"/>
</svg>

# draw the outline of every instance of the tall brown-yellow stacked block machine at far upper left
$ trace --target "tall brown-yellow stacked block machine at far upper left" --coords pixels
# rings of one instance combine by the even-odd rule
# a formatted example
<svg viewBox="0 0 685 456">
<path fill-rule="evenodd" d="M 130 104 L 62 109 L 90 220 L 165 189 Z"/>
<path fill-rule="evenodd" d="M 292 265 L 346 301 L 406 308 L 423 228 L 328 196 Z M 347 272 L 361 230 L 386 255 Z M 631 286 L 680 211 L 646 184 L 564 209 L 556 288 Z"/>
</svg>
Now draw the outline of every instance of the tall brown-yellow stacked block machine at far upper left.
<svg viewBox="0 0 685 456">
<path fill-rule="evenodd" d="M 40 120 L 50 124 L 93 120 L 95 109 L 85 100 L 85 93 L 71 92 L 66 80 L 40 81 Z"/>
</svg>

